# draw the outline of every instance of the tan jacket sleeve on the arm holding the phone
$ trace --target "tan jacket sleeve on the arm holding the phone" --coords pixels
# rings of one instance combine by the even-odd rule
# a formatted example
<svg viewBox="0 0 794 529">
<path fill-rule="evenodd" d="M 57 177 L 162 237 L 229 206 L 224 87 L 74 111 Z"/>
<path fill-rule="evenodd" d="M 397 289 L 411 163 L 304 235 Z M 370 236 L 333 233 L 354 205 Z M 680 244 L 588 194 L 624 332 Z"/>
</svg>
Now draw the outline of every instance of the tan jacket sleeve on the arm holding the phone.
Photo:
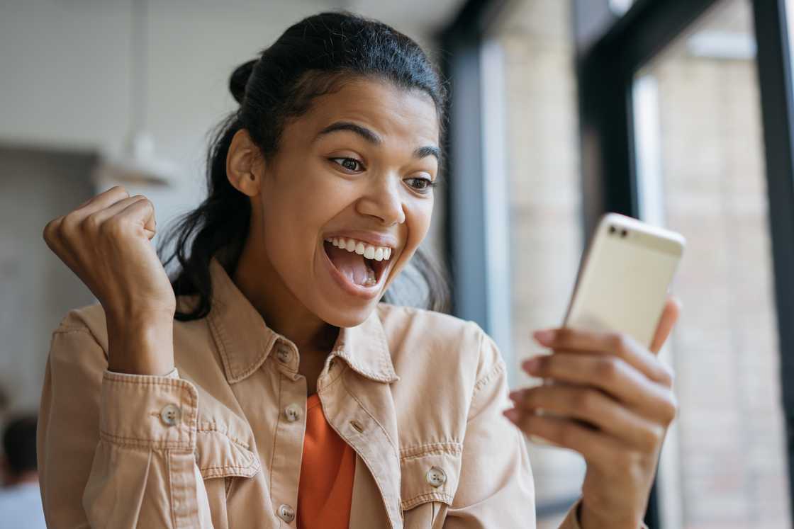
<svg viewBox="0 0 794 529">
<path fill-rule="evenodd" d="M 479 378 L 463 442 L 461 477 L 445 529 L 525 527 L 534 529 L 535 493 L 526 439 L 505 416 L 512 408 L 499 349 L 480 331 Z M 580 529 L 576 507 L 561 529 Z"/>
</svg>

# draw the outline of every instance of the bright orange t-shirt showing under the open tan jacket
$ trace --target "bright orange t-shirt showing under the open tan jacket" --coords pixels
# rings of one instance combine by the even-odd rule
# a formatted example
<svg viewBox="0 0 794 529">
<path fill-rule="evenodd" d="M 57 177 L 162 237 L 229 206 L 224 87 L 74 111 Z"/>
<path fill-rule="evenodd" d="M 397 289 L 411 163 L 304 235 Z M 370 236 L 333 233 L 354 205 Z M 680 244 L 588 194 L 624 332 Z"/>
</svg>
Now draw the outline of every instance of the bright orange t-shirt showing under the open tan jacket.
<svg viewBox="0 0 794 529">
<path fill-rule="evenodd" d="M 328 424 L 315 393 L 306 402 L 298 485 L 299 529 L 347 529 L 356 452 Z"/>
</svg>

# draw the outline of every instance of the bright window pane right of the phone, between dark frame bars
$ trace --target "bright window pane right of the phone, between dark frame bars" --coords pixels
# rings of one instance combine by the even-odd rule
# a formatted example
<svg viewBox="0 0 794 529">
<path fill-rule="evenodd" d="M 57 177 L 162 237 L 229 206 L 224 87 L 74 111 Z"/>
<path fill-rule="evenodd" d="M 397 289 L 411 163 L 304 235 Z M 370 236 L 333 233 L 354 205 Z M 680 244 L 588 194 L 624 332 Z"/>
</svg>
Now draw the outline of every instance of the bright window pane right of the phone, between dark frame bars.
<svg viewBox="0 0 794 529">
<path fill-rule="evenodd" d="M 716 2 L 634 79 L 641 217 L 684 234 L 665 355 L 680 413 L 662 527 L 789 527 L 763 131 L 750 2 Z"/>
</svg>

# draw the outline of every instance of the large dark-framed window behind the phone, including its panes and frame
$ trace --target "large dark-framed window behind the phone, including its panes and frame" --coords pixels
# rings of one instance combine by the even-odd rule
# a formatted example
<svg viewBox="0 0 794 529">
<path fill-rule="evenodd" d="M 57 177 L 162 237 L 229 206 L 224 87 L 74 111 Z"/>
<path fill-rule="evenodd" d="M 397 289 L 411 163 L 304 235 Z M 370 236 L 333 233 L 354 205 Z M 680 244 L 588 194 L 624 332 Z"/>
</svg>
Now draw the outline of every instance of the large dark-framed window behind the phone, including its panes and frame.
<svg viewBox="0 0 794 529">
<path fill-rule="evenodd" d="M 684 315 L 662 353 L 678 374 L 680 415 L 649 499 L 651 529 L 790 527 L 794 67 L 784 20 L 784 2 L 766 0 L 472 0 L 446 33 L 456 313 L 494 335 L 512 385 L 534 382 L 517 369 L 540 351 L 530 332 L 561 322 L 602 213 L 688 238 L 673 287 Z M 584 465 L 565 450 L 530 451 L 538 525 L 556 527 Z"/>
</svg>

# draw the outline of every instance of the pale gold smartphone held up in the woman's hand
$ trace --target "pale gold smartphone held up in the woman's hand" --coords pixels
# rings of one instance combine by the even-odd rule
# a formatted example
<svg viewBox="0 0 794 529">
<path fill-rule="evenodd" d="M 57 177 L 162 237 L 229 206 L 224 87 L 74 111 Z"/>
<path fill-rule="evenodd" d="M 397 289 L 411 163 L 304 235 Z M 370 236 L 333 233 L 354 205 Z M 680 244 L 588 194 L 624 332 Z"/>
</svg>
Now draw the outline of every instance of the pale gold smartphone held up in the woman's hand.
<svg viewBox="0 0 794 529">
<path fill-rule="evenodd" d="M 650 347 L 685 244 L 679 233 L 630 217 L 601 217 L 581 261 L 563 327 L 622 332 Z M 538 415 L 551 414 L 538 410 Z M 552 444 L 536 435 L 530 439 Z"/>
</svg>

